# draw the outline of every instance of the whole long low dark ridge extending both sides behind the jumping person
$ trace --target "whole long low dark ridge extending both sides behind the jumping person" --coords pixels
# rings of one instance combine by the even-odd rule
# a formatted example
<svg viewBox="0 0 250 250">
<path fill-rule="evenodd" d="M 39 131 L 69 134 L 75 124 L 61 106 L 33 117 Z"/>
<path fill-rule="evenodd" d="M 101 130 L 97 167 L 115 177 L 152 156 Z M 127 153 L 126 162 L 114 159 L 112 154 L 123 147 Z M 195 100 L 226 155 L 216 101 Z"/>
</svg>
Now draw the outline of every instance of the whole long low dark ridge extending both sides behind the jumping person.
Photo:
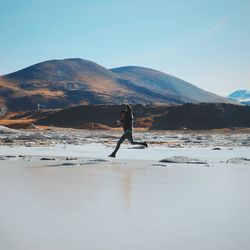
<svg viewBox="0 0 250 250">
<path fill-rule="evenodd" d="M 121 105 L 84 105 L 55 111 L 39 118 L 38 125 L 69 128 L 115 127 Z M 155 130 L 250 127 L 250 107 L 233 104 L 134 105 L 135 127 Z"/>
</svg>

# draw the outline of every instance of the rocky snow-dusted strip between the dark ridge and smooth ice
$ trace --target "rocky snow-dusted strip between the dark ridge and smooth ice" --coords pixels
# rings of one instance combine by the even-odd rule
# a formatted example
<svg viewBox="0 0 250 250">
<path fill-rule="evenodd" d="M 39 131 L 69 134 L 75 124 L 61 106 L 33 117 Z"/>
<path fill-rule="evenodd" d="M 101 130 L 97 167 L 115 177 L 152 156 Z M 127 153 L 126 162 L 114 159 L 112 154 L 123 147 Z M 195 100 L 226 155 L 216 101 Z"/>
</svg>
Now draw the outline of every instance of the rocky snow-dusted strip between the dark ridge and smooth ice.
<svg viewBox="0 0 250 250">
<path fill-rule="evenodd" d="M 14 130 L 0 125 L 0 145 L 42 146 L 56 144 L 83 145 L 89 143 L 115 144 L 121 131 L 31 129 Z M 250 133 L 229 130 L 215 131 L 146 131 L 135 132 L 135 139 L 150 146 L 182 147 L 241 147 L 250 146 Z"/>
</svg>

